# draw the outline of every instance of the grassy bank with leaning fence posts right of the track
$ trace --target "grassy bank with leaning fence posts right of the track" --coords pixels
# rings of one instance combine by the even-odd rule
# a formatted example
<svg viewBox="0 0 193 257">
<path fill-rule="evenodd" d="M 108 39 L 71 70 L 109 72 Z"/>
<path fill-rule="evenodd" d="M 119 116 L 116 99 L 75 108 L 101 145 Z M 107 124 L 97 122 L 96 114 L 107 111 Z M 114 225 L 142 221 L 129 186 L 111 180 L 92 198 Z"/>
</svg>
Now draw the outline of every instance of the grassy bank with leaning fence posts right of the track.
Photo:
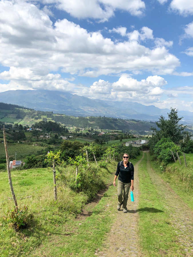
<svg viewBox="0 0 193 257">
<path fill-rule="evenodd" d="M 182 165 L 169 163 L 163 172 L 159 164 L 151 161 L 151 165 L 161 178 L 169 183 L 170 187 L 180 196 L 180 198 L 193 209 L 193 154 L 185 154 L 187 168 L 184 162 L 184 156 L 180 156 Z"/>
</svg>

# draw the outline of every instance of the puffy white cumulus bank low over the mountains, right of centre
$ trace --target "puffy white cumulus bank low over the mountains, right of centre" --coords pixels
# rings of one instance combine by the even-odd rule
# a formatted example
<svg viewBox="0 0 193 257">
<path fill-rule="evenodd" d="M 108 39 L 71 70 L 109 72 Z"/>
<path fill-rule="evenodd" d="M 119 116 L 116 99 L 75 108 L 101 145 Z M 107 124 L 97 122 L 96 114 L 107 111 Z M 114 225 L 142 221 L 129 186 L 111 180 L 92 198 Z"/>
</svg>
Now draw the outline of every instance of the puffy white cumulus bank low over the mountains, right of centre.
<svg viewBox="0 0 193 257">
<path fill-rule="evenodd" d="M 114 101 L 134 100 L 139 102 L 156 101 L 163 94 L 161 88 L 167 84 L 167 81 L 160 76 L 149 76 L 147 79 L 137 81 L 128 76 L 122 76 L 118 81 L 109 83 L 108 81 L 99 80 L 90 87 L 81 87 L 76 89 L 80 95 L 93 99 L 104 99 Z"/>
</svg>

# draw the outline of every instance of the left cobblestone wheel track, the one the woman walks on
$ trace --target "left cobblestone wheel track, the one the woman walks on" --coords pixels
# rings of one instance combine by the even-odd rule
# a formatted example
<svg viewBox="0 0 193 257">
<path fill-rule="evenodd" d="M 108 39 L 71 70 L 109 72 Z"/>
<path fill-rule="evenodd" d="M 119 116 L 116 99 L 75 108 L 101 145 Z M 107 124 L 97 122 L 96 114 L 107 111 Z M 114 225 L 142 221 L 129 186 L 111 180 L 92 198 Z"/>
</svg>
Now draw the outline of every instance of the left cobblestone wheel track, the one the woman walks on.
<svg viewBox="0 0 193 257">
<path fill-rule="evenodd" d="M 138 165 L 144 158 L 144 153 L 142 158 L 134 166 L 134 202 L 128 199 L 128 213 L 123 213 L 123 209 L 117 211 L 117 216 L 115 222 L 112 226 L 110 233 L 106 239 L 106 246 L 104 248 L 95 251 L 95 255 L 99 257 L 122 257 L 122 256 L 137 256 L 137 222 L 138 213 L 136 212 L 138 208 L 138 196 L 140 194 L 139 190 L 139 176 L 138 176 Z M 118 203 L 118 200 L 117 200 Z M 114 206 L 117 208 L 117 205 Z M 107 207 L 108 209 L 108 207 Z"/>
</svg>

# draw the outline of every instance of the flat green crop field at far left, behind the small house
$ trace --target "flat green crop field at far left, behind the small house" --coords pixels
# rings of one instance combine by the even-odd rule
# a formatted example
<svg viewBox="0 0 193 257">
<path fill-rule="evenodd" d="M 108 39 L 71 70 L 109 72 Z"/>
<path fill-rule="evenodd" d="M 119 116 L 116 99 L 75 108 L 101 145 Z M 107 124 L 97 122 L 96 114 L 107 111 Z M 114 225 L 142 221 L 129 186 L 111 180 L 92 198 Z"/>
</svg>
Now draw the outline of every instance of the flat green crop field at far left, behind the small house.
<svg viewBox="0 0 193 257">
<path fill-rule="evenodd" d="M 33 146 L 28 144 L 7 143 L 7 150 L 8 150 L 9 156 L 15 155 L 15 152 L 16 152 L 17 153 L 16 160 L 23 160 L 27 155 L 31 155 L 31 154 L 37 155 L 37 152 L 43 149 L 45 149 L 45 147 Z M 0 159 L 5 159 L 4 144 L 0 144 Z"/>
</svg>

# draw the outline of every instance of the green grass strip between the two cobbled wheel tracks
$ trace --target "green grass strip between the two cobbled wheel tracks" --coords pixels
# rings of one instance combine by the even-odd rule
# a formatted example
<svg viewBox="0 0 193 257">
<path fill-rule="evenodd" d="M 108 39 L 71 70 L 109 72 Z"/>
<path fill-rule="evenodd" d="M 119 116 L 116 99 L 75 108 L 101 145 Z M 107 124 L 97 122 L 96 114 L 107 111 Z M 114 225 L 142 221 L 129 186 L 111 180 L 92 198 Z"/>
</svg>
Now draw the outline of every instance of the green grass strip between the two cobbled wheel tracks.
<svg viewBox="0 0 193 257">
<path fill-rule="evenodd" d="M 176 244 L 176 234 L 171 226 L 169 213 L 164 207 L 167 205 L 166 200 L 160 189 L 152 184 L 146 162 L 147 154 L 145 153 L 144 159 L 139 164 L 141 195 L 138 206 L 138 234 L 143 256 L 162 256 L 160 250 L 167 252 L 167 256 L 181 256 L 180 246 Z"/>
</svg>

